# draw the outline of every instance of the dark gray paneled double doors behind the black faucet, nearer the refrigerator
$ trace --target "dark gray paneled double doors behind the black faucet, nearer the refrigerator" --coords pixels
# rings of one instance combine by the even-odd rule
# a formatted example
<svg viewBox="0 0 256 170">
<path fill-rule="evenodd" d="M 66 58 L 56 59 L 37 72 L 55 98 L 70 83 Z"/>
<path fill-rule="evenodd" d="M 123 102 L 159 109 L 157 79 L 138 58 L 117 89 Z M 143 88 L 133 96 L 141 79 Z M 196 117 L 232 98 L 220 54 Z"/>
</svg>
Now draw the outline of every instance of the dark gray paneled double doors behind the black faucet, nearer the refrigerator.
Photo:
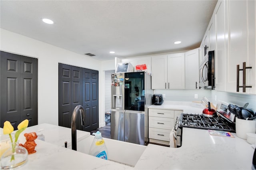
<svg viewBox="0 0 256 170">
<path fill-rule="evenodd" d="M 98 128 L 98 71 L 59 63 L 59 126 L 71 127 L 77 105 L 84 107 L 86 115 L 85 127 L 77 116 L 77 129 L 89 132 Z"/>
</svg>

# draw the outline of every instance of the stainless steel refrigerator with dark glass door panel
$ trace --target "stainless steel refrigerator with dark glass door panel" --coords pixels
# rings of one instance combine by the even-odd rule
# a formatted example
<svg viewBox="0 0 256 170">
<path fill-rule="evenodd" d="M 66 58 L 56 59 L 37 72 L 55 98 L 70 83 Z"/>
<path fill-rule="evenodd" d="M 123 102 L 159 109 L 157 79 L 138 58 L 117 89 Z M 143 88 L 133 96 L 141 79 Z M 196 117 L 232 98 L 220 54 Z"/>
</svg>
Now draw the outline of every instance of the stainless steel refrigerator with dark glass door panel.
<svg viewBox="0 0 256 170">
<path fill-rule="evenodd" d="M 145 72 L 112 74 L 111 138 L 136 144 L 148 142 L 151 76 Z"/>
</svg>

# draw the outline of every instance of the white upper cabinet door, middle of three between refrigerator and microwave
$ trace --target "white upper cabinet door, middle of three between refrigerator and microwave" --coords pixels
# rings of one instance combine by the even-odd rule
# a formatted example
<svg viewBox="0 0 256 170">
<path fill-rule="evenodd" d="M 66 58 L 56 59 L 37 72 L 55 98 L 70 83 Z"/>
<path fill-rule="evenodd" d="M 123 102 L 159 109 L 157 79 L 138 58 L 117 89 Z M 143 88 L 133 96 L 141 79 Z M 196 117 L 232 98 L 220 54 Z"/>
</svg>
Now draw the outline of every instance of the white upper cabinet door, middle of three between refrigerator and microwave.
<svg viewBox="0 0 256 170">
<path fill-rule="evenodd" d="M 185 89 L 185 55 L 184 53 L 169 54 L 168 87 L 166 89 Z"/>
</svg>

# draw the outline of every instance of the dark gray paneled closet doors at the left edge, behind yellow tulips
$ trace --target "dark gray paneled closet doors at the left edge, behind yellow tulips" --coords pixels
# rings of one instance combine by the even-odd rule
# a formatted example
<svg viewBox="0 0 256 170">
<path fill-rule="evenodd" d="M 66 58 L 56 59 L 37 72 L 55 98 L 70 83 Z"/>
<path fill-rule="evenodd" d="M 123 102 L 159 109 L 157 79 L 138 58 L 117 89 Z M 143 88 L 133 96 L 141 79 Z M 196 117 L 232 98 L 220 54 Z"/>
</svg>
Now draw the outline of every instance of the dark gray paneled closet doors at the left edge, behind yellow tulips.
<svg viewBox="0 0 256 170">
<path fill-rule="evenodd" d="M 1 126 L 10 121 L 14 129 L 24 119 L 38 124 L 38 59 L 0 51 Z"/>
</svg>

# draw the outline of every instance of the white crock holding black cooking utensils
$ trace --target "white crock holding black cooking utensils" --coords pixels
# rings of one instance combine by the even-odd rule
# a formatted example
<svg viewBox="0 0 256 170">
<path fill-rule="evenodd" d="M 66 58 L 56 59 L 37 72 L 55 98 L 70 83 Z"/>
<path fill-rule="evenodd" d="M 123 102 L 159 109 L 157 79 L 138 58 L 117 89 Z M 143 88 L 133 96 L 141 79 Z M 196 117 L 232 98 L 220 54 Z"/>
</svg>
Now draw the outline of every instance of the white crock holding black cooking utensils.
<svg viewBox="0 0 256 170">
<path fill-rule="evenodd" d="M 256 133 L 256 120 L 244 120 L 236 117 L 236 136 L 246 139 L 246 133 Z"/>
</svg>

